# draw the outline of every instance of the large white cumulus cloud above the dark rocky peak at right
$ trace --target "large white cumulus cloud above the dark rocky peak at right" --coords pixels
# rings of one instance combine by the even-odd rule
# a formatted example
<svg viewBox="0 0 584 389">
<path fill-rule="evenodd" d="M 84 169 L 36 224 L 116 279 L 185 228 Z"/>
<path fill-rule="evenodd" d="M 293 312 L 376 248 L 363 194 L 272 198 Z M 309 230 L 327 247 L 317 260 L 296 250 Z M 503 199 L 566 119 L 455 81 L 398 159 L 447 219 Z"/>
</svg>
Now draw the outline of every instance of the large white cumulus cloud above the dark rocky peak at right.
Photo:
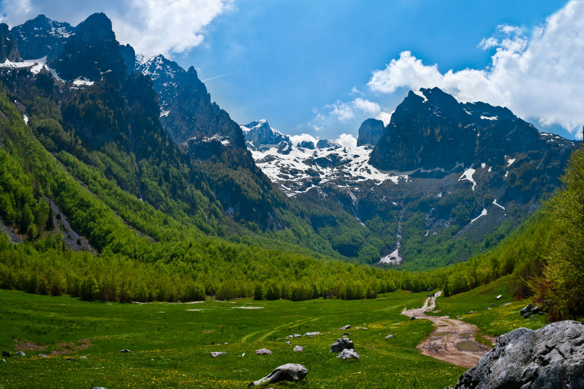
<svg viewBox="0 0 584 389">
<path fill-rule="evenodd" d="M 442 74 L 436 64 L 424 64 L 404 51 L 385 69 L 374 71 L 367 86 L 382 93 L 438 86 L 459 101 L 506 106 L 543 126 L 559 124 L 571 133 L 582 128 L 584 1 L 569 2 L 529 37 L 521 27 L 500 25 L 495 36 L 482 40 L 479 47 L 496 47 L 484 70 Z"/>
</svg>

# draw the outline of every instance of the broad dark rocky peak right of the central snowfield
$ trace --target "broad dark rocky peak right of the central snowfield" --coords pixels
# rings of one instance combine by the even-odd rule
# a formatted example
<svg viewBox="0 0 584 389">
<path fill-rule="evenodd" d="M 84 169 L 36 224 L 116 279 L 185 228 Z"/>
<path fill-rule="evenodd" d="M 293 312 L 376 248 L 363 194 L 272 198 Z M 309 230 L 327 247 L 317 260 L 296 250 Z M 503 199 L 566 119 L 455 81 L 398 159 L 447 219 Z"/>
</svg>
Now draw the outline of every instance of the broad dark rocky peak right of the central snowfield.
<svg viewBox="0 0 584 389">
<path fill-rule="evenodd" d="M 370 163 L 378 169 L 415 171 L 486 163 L 545 148 L 537 129 L 505 107 L 459 103 L 439 88 L 410 91 L 391 116 Z"/>
</svg>

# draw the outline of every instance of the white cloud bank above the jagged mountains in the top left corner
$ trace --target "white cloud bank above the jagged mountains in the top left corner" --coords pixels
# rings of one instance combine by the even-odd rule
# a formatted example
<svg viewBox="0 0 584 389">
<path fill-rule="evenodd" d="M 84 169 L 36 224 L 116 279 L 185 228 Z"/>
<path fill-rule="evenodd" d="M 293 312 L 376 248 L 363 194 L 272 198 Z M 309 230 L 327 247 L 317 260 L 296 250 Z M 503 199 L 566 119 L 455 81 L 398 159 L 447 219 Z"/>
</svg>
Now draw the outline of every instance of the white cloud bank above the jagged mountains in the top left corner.
<svg viewBox="0 0 584 389">
<path fill-rule="evenodd" d="M 15 26 L 43 13 L 77 25 L 91 13 L 104 12 L 120 43 L 130 43 L 137 53 L 172 57 L 199 45 L 205 27 L 232 7 L 232 0 L 2 0 L 0 21 Z"/>
</svg>

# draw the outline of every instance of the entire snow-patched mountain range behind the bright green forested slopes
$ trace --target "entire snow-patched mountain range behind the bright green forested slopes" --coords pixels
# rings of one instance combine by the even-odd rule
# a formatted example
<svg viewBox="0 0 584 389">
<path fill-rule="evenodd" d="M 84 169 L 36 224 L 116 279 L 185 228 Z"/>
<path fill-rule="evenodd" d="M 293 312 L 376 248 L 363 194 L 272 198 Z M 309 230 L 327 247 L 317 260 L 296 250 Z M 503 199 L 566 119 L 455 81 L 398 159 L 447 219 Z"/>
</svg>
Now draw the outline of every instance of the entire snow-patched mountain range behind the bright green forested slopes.
<svg viewBox="0 0 584 389">
<path fill-rule="evenodd" d="M 232 120 L 194 67 L 120 44 L 103 13 L 2 24 L 0 39 L 0 80 L 71 175 L 91 186 L 68 155 L 224 239 L 412 270 L 463 261 L 538 209 L 576 147 L 438 88 L 410 91 L 387 126 L 364 121 L 356 147 L 293 144 L 267 120 Z"/>
</svg>

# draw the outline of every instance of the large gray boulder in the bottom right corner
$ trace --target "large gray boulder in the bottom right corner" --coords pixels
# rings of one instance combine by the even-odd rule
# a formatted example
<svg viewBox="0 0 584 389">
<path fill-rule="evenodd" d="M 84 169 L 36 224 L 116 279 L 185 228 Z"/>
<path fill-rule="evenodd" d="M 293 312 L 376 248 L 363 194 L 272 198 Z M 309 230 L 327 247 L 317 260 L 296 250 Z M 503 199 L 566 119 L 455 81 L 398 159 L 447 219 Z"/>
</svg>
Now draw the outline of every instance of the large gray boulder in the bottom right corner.
<svg viewBox="0 0 584 389">
<path fill-rule="evenodd" d="M 500 336 L 455 388 L 584 388 L 584 325 L 566 320 Z"/>
</svg>

